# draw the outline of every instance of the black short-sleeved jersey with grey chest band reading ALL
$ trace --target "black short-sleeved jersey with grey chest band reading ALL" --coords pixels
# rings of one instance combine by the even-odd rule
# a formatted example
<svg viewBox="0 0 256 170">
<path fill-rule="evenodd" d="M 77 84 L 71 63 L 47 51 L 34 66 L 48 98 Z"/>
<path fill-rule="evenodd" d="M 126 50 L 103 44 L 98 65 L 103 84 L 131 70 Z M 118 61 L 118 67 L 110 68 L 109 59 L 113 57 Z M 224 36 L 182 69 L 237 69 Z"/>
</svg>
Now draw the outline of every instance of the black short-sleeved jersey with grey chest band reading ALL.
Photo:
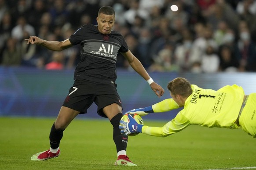
<svg viewBox="0 0 256 170">
<path fill-rule="evenodd" d="M 74 79 L 95 82 L 115 82 L 117 79 L 117 52 L 125 53 L 128 46 L 124 37 L 116 31 L 104 35 L 96 25 L 86 24 L 70 36 L 73 45 L 81 44 L 80 62 Z"/>
</svg>

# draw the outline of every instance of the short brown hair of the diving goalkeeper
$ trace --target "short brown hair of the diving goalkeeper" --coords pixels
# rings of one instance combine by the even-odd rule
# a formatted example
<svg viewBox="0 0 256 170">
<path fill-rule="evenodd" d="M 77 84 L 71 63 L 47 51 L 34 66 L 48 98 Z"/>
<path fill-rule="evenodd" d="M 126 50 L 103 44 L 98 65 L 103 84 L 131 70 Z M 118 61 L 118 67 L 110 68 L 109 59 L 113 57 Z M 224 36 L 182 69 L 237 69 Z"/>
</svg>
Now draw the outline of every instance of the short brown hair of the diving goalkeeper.
<svg viewBox="0 0 256 170">
<path fill-rule="evenodd" d="M 175 78 L 167 85 L 167 89 L 174 95 L 188 97 L 192 94 L 190 82 L 186 78 Z"/>
</svg>

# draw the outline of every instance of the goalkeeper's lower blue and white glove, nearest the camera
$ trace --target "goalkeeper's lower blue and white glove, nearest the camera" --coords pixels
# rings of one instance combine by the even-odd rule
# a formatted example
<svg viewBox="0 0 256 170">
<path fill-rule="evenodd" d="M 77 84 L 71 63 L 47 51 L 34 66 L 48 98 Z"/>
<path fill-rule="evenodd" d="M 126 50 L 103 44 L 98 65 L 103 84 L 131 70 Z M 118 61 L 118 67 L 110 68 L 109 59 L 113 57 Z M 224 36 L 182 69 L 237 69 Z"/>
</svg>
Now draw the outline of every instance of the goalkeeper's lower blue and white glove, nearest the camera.
<svg viewBox="0 0 256 170">
<path fill-rule="evenodd" d="M 128 119 L 129 122 L 120 120 L 119 129 L 121 129 L 121 134 L 129 135 L 132 133 L 141 133 L 143 125 L 138 124 L 130 114 L 128 114 Z"/>
</svg>

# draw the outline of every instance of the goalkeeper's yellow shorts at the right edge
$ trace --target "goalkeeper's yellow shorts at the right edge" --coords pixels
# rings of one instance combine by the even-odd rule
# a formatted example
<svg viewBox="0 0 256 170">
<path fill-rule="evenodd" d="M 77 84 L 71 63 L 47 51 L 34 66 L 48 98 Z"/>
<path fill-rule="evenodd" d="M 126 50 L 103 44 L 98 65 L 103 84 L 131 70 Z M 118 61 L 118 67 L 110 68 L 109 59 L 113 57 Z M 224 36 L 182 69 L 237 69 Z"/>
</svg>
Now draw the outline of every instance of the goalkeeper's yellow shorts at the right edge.
<svg viewBox="0 0 256 170">
<path fill-rule="evenodd" d="M 256 138 L 256 93 L 249 95 L 239 118 L 239 124 L 243 131 Z"/>
</svg>

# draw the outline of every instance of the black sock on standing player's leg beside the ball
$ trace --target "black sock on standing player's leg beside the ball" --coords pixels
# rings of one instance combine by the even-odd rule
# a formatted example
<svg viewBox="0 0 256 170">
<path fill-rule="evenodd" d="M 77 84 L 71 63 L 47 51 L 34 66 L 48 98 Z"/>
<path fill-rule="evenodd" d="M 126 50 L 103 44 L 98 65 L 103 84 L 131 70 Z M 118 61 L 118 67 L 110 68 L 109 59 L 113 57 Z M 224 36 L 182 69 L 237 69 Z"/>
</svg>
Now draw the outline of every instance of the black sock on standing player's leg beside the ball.
<svg viewBox="0 0 256 170">
<path fill-rule="evenodd" d="M 128 143 L 128 136 L 121 134 L 121 130 L 119 129 L 119 123 L 122 117 L 122 113 L 117 113 L 117 115 L 110 120 L 111 124 L 113 125 L 113 141 L 116 144 L 117 152 L 122 150 L 126 151 Z"/>
</svg>

